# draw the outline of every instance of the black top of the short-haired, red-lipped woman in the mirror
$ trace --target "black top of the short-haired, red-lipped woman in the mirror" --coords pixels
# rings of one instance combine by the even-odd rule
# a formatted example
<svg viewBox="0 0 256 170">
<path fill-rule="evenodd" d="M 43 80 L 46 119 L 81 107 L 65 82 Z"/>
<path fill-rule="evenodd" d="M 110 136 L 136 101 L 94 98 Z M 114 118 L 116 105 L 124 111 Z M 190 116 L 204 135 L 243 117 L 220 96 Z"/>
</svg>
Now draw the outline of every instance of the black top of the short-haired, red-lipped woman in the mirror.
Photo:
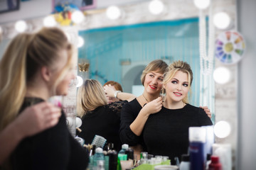
<svg viewBox="0 0 256 170">
<path fill-rule="evenodd" d="M 141 110 L 142 106 L 139 104 L 136 98 L 123 106 L 121 111 L 119 135 L 123 144 L 125 143 L 129 146 L 142 145 L 143 150 L 146 151 L 142 135 L 135 135 L 131 128 L 129 128 L 129 125 L 134 122 Z"/>
</svg>

